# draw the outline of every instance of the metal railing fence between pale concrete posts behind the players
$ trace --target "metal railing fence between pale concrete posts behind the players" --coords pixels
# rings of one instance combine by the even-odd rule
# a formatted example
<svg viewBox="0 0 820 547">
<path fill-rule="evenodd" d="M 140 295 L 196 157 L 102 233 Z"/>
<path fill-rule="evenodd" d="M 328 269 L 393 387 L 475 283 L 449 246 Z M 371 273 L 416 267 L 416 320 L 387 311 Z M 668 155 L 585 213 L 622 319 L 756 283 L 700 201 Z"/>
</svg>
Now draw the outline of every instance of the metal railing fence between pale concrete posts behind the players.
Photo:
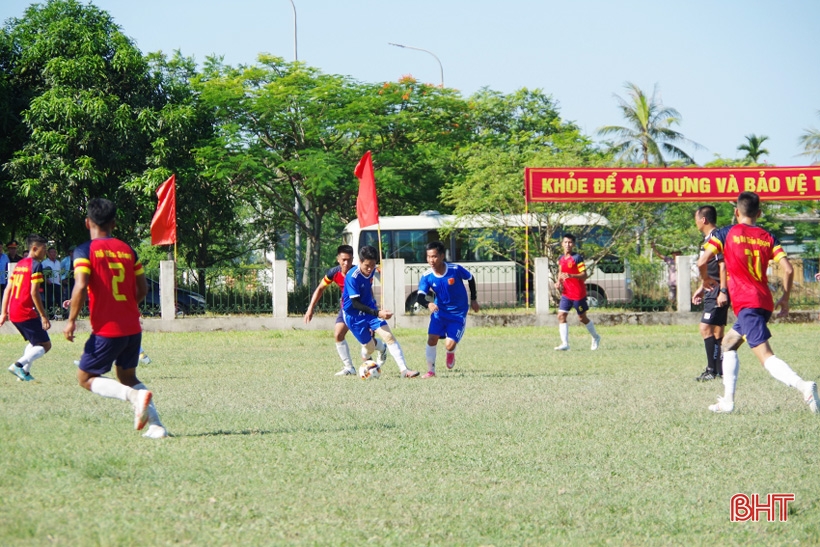
<svg viewBox="0 0 820 547">
<path fill-rule="evenodd" d="M 791 293 L 791 308 L 817 309 L 820 307 L 820 283 L 814 280 L 818 272 L 816 259 L 792 259 L 795 268 L 795 283 Z M 532 273 L 529 279 L 522 265 L 499 264 L 467 266 L 476 278 L 478 298 L 486 312 L 527 313 L 535 311 L 534 287 Z M 416 291 L 421 275 L 426 266 L 405 266 L 405 311 L 424 313 L 414 306 Z M 325 268 L 317 268 L 312 279 L 321 279 Z M 204 279 L 204 291 L 200 289 L 199 276 Z M 612 287 L 624 284 L 625 276 L 630 291 L 617 292 Z M 149 271 L 149 293 L 141 305 L 143 315 L 159 316 L 159 272 Z M 593 309 L 624 311 L 674 311 L 675 296 L 669 284 L 669 271 L 660 261 L 636 260 L 630 263 L 627 271 L 607 273 L 599 271 L 596 281 L 600 289 L 590 292 L 590 304 Z M 769 280 L 775 298 L 782 292 L 779 281 L 779 269 L 771 266 Z M 691 281 L 692 293 L 697 289 L 700 280 L 693 272 Z M 295 286 L 293 273 L 289 272 L 288 314 L 303 315 L 307 311 L 315 286 Z M 70 297 L 71 280 L 62 287 L 46 287 L 44 294 L 49 314 L 52 318 L 65 317 L 66 311 L 61 307 L 62 301 Z M 272 315 L 273 314 L 273 272 L 264 266 L 232 266 L 207 268 L 202 271 L 180 270 L 177 272 L 177 315 L 178 317 L 197 317 L 202 315 Z M 596 291 L 600 290 L 598 294 Z M 322 294 L 316 306 L 317 314 L 336 314 L 339 310 L 341 292 L 336 285 L 331 285 Z M 551 288 L 551 301 L 557 305 L 560 294 Z M 201 302 L 201 304 L 200 304 Z M 692 310 L 698 308 L 692 306 Z M 87 310 L 82 316 L 87 315 Z"/>
</svg>

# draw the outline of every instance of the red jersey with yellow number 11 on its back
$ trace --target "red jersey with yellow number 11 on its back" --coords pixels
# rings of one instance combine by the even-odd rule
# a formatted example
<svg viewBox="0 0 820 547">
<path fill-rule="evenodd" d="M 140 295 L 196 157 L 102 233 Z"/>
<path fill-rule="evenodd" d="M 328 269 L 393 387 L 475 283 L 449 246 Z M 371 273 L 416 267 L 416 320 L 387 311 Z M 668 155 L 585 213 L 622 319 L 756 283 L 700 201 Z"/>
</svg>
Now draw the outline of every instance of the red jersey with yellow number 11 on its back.
<svg viewBox="0 0 820 547">
<path fill-rule="evenodd" d="M 703 248 L 723 253 L 735 315 L 746 308 L 774 311 L 766 270 L 770 261 L 780 262 L 786 252 L 771 232 L 748 224 L 726 226 L 715 230 Z"/>
</svg>

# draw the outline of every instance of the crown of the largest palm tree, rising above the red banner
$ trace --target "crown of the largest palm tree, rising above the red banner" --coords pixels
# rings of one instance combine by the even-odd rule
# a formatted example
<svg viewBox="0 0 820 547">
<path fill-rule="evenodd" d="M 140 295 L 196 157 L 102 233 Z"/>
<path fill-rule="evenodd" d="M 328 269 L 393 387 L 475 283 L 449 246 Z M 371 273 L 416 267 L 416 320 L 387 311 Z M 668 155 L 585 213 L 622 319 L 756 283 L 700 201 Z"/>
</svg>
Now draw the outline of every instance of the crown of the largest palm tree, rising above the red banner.
<svg viewBox="0 0 820 547">
<path fill-rule="evenodd" d="M 703 147 L 671 129 L 673 125 L 680 123 L 681 116 L 674 108 L 663 106 L 658 96 L 657 84 L 652 91 L 652 97 L 647 97 L 633 83 L 627 82 L 624 87 L 629 90 L 630 101 L 625 101 L 618 95 L 615 95 L 615 98 L 628 122 L 628 127 L 607 125 L 598 129 L 601 136 L 614 135 L 619 139 L 612 144 L 612 151 L 621 159 L 637 159 L 644 165 L 649 165 L 651 160 L 666 167 L 664 154 L 685 163 L 695 163 L 695 160 L 677 145 L 688 144 L 695 149 Z"/>
</svg>

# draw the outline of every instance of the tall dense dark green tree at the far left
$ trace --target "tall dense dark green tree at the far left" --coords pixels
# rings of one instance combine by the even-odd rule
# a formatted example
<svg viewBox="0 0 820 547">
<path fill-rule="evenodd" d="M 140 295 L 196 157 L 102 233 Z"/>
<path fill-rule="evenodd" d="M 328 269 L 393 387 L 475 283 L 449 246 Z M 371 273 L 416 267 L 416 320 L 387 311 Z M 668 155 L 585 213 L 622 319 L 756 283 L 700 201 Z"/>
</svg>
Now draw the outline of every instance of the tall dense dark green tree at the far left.
<svg viewBox="0 0 820 547">
<path fill-rule="evenodd" d="M 34 4 L 5 33 L 26 132 L 5 167 L 29 227 L 85 239 L 85 203 L 101 196 L 119 205 L 118 233 L 134 238 L 142 211 L 124 183 L 145 169 L 140 118 L 157 99 L 140 51 L 107 13 L 76 0 Z"/>
</svg>

